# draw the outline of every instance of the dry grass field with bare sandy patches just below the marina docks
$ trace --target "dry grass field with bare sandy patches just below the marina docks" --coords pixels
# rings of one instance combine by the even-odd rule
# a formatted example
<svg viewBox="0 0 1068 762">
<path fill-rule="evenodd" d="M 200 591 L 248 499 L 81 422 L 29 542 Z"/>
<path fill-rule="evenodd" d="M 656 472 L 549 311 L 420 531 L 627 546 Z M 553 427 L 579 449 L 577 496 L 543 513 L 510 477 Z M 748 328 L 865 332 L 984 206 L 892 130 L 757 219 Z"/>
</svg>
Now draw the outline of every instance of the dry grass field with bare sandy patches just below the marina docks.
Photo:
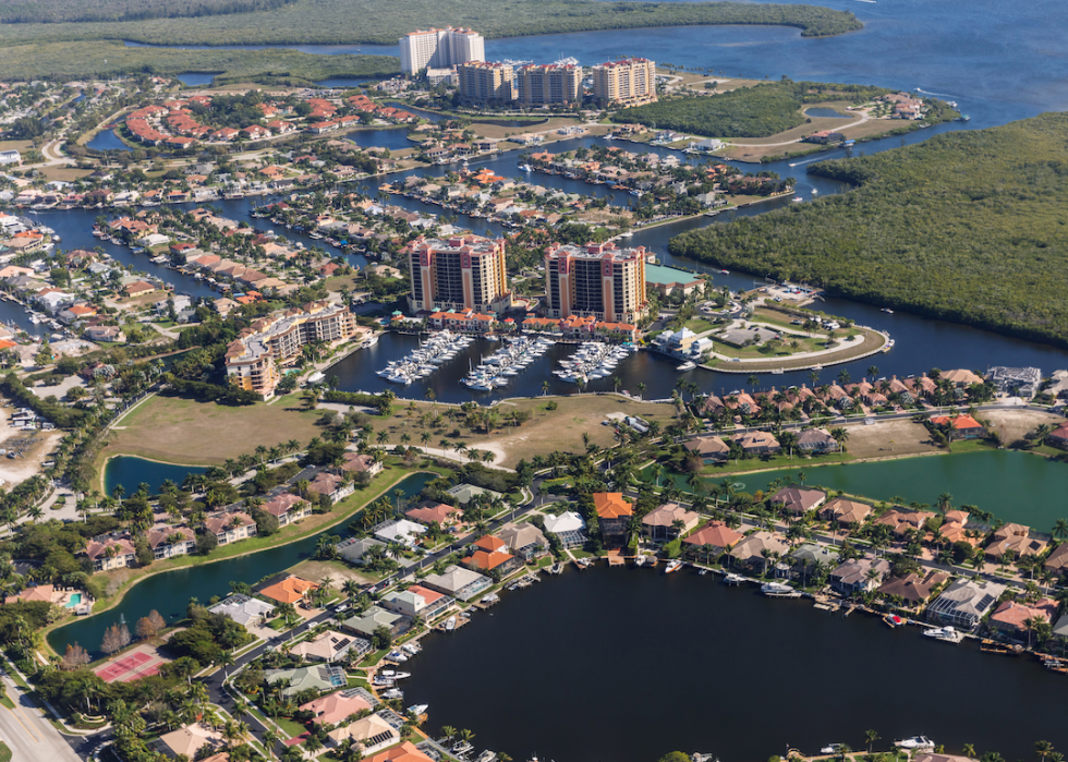
<svg viewBox="0 0 1068 762">
<path fill-rule="evenodd" d="M 555 411 L 545 409 L 553 400 L 558 408 Z M 426 411 L 435 411 L 432 403 L 416 403 L 417 412 L 409 418 L 406 407 L 397 411 L 385 424 L 376 424 L 376 431 L 386 431 L 390 444 L 399 444 L 400 436 L 408 434 L 411 445 L 420 446 L 420 435 L 423 432 L 418 416 Z M 582 435 L 588 434 L 590 440 L 600 447 L 607 447 L 615 442 L 611 426 L 603 426 L 602 421 L 609 413 L 636 415 L 646 421 L 669 423 L 675 415 L 675 408 L 664 402 L 639 402 L 615 395 L 575 395 L 573 397 L 537 397 L 501 402 L 497 410 L 507 413 L 511 410 L 529 410 L 533 418 L 522 426 L 512 428 L 503 426 L 486 434 L 480 428 L 472 433 L 461 427 L 461 436 L 448 437 L 448 426 L 429 428 L 432 439 L 427 447 L 439 447 L 442 438 L 457 444 L 464 442 L 469 447 L 487 449 L 502 453 L 494 461 L 495 465 L 513 468 L 520 459 L 530 460 L 535 455 L 547 456 L 554 450 L 562 452 L 582 452 L 585 446 Z M 444 406 L 437 406 L 436 412 L 444 412 Z"/>
</svg>

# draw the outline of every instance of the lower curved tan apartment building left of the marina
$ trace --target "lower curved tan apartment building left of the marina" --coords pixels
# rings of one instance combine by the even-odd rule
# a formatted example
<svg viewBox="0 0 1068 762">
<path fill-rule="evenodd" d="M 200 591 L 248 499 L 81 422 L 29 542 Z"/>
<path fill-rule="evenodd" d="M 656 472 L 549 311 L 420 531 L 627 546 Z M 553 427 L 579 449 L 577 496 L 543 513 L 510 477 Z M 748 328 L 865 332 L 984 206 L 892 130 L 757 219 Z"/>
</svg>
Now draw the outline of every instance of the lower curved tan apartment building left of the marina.
<svg viewBox="0 0 1068 762">
<path fill-rule="evenodd" d="M 349 307 L 331 302 L 262 317 L 227 347 L 227 376 L 231 384 L 269 399 L 281 380 L 280 367 L 296 360 L 305 344 L 337 344 L 355 331 L 356 318 Z"/>
</svg>

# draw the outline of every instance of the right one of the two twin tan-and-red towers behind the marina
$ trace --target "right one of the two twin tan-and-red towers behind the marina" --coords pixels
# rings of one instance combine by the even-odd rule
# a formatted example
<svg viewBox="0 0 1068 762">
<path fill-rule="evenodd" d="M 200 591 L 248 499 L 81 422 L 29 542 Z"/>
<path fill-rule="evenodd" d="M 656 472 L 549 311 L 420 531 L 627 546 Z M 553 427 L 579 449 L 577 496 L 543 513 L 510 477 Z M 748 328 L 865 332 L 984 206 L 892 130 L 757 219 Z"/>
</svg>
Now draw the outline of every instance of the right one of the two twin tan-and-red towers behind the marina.
<svg viewBox="0 0 1068 762">
<path fill-rule="evenodd" d="M 593 316 L 636 324 L 648 310 L 645 246 L 612 242 L 585 246 L 554 244 L 545 250 L 546 317 Z"/>
</svg>

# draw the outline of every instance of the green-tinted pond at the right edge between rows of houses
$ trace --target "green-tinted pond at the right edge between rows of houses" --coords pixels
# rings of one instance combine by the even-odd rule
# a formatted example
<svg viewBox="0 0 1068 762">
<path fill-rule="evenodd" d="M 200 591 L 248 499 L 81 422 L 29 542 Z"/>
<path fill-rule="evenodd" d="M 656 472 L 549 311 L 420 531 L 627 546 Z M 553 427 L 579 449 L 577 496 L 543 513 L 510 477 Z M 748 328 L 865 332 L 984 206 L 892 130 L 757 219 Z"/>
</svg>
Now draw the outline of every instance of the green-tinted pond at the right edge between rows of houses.
<svg viewBox="0 0 1068 762">
<path fill-rule="evenodd" d="M 849 445 L 846 445 L 847 448 Z M 841 489 L 875 500 L 900 497 L 905 503 L 935 505 L 944 492 L 954 505 L 974 505 L 1005 521 L 1048 532 L 1057 519 L 1068 518 L 1068 464 L 1019 450 L 986 450 L 958 455 L 902 458 L 871 463 L 847 463 L 763 471 L 732 476 L 745 492 L 767 489 L 774 480 L 796 481 Z M 719 479 L 717 477 L 718 482 Z"/>
</svg>

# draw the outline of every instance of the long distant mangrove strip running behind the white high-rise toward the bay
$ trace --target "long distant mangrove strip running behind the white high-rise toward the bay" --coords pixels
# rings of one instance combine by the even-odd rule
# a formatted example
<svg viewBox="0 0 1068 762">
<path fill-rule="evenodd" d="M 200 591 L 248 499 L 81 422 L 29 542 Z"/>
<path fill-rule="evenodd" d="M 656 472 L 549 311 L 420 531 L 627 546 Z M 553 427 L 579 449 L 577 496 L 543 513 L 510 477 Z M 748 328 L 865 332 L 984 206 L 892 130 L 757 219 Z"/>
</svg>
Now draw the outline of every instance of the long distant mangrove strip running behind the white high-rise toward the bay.
<svg viewBox="0 0 1068 762">
<path fill-rule="evenodd" d="M 202 0 L 211 1 L 222 0 Z M 96 7 L 98 3 L 83 4 Z M 515 37 L 684 24 L 796 26 L 805 37 L 837 35 L 863 27 L 852 13 L 818 5 L 603 0 L 496 0 L 490 3 L 476 0 L 450 3 L 296 0 L 269 11 L 198 19 L 0 25 L 0 46 L 124 39 L 155 45 L 396 45 L 401 35 L 430 26 L 471 26 L 487 37 Z M 192 51 L 180 52 L 191 59 L 195 56 Z"/>
</svg>

